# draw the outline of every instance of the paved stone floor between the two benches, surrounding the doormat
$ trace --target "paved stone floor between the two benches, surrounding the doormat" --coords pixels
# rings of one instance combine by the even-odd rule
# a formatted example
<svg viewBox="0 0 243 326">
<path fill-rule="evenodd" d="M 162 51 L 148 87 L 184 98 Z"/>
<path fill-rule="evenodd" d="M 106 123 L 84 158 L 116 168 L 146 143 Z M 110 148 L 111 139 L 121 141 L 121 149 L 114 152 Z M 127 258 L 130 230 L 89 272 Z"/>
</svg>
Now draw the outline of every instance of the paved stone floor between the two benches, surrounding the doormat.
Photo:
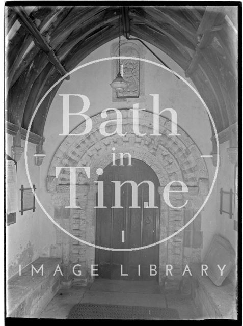
<svg viewBox="0 0 243 326">
<path fill-rule="evenodd" d="M 60 290 L 41 313 L 40 318 L 67 318 L 77 303 L 168 307 L 178 311 L 181 319 L 197 319 L 192 298 L 178 292 L 160 294 L 155 282 L 96 280 L 90 287 L 73 286 Z"/>
</svg>

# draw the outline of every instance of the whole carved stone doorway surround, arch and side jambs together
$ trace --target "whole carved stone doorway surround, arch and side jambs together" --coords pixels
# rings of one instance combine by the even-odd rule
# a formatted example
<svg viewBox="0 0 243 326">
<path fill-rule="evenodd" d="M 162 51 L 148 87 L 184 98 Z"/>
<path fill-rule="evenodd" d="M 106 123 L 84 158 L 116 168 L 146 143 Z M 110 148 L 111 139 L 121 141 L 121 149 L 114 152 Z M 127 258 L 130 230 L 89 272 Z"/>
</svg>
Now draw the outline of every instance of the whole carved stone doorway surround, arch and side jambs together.
<svg viewBox="0 0 243 326">
<path fill-rule="evenodd" d="M 171 121 L 159 117 L 161 136 L 151 136 L 153 114 L 140 112 L 140 132 L 146 136 L 138 137 L 132 130 L 132 114 L 122 110 L 124 137 L 114 134 L 104 137 L 99 132 L 100 123 L 116 118 L 114 112 L 106 119 L 100 114 L 92 117 L 92 131 L 87 135 L 67 137 L 59 146 L 52 158 L 48 176 L 47 190 L 51 193 L 55 208 L 55 220 L 71 234 L 89 243 L 95 243 L 95 206 L 98 180 L 96 170 L 104 169 L 112 162 L 112 149 L 116 152 L 128 152 L 132 158 L 141 160 L 150 166 L 158 177 L 160 187 L 160 240 L 179 230 L 190 220 L 208 194 L 208 172 L 201 152 L 190 136 L 178 126 L 180 136 L 170 136 Z M 76 127 L 72 133 L 79 134 L 85 123 Z M 113 132 L 115 123 L 107 126 L 107 132 Z M 56 167 L 90 167 L 90 178 L 81 170 L 76 175 L 76 195 L 79 209 L 68 209 L 69 205 L 69 169 L 62 169 L 56 178 Z M 175 193 L 170 196 L 174 206 L 181 206 L 188 200 L 185 208 L 172 209 L 164 201 L 164 187 L 171 181 L 183 181 L 187 193 Z M 183 268 L 187 263 L 200 261 L 202 247 L 200 215 L 197 222 L 188 226 L 170 240 L 159 244 L 159 282 L 160 284 L 181 284 Z M 58 242 L 59 241 L 59 242 Z M 79 282 L 88 282 L 91 276 L 91 265 L 95 262 L 95 248 L 71 239 L 66 234 L 62 241 L 57 240 L 63 260 L 64 279 L 67 284 L 73 279 L 72 267 L 81 265 L 82 276 Z M 166 265 L 173 266 L 173 275 L 166 276 Z M 76 276 L 74 280 L 76 280 Z M 168 282 L 167 282 L 168 281 Z"/>
</svg>

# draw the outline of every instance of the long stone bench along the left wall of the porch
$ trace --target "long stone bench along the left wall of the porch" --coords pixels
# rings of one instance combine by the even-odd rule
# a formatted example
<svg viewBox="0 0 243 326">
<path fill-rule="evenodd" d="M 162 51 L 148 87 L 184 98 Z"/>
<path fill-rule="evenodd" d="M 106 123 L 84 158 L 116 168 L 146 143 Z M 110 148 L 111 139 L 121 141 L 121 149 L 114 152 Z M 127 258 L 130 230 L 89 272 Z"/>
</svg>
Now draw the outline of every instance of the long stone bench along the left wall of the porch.
<svg viewBox="0 0 243 326">
<path fill-rule="evenodd" d="M 32 276 L 32 265 L 42 264 L 43 276 L 35 270 Z M 58 264 L 60 258 L 38 258 L 7 281 L 7 317 L 38 317 L 60 288 L 60 273 L 53 276 Z"/>
</svg>

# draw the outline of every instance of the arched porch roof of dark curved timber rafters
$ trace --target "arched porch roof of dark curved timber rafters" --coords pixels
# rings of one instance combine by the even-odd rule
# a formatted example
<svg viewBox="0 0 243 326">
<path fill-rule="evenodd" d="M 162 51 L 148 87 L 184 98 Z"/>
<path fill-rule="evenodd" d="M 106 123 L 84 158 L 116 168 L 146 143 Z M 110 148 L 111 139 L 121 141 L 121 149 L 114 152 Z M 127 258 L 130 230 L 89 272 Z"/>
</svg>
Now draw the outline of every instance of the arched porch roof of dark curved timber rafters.
<svg viewBox="0 0 243 326">
<path fill-rule="evenodd" d="M 221 131 L 236 121 L 235 38 L 222 6 L 130 6 L 130 35 L 164 51 L 190 76 Z M 119 36 L 118 6 L 7 7 L 7 120 L 28 128 L 48 88 L 97 47 Z M 236 41 L 235 41 L 236 40 Z M 42 103 L 32 132 L 43 136 L 49 106 Z"/>
</svg>

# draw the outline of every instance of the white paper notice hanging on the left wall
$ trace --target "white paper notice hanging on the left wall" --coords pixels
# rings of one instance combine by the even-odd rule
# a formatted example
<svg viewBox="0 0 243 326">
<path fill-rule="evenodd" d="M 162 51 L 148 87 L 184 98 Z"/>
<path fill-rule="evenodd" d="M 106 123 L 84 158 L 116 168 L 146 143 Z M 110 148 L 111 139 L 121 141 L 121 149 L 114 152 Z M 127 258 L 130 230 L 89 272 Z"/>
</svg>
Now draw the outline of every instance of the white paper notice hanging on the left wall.
<svg viewBox="0 0 243 326">
<path fill-rule="evenodd" d="M 14 161 L 6 161 L 6 188 L 7 188 L 7 214 L 17 212 L 18 193 L 17 193 L 17 171 Z"/>
</svg>

